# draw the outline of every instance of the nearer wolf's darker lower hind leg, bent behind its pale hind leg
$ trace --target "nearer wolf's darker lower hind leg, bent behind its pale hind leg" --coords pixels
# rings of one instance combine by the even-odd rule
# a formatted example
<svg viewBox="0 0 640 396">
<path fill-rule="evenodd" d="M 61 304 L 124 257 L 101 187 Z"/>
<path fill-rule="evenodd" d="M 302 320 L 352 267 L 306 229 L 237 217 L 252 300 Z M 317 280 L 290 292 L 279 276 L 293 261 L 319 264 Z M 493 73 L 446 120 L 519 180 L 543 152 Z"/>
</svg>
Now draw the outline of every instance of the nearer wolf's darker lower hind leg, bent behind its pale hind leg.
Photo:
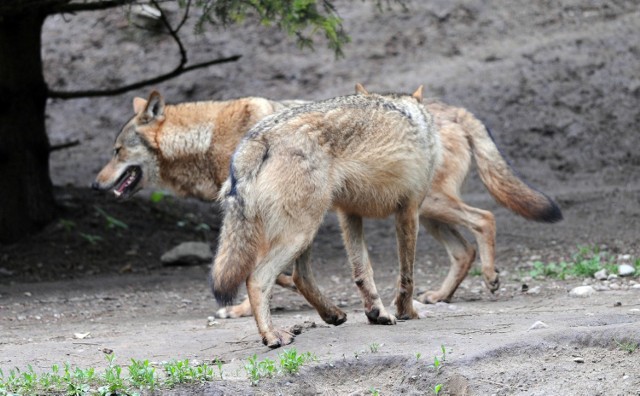
<svg viewBox="0 0 640 396">
<path fill-rule="evenodd" d="M 347 314 L 329 301 L 318 289 L 311 271 L 310 262 L 311 246 L 296 259 L 296 264 L 293 268 L 293 281 L 300 294 L 318 311 L 322 320 L 338 326 L 347 320 Z"/>
</svg>

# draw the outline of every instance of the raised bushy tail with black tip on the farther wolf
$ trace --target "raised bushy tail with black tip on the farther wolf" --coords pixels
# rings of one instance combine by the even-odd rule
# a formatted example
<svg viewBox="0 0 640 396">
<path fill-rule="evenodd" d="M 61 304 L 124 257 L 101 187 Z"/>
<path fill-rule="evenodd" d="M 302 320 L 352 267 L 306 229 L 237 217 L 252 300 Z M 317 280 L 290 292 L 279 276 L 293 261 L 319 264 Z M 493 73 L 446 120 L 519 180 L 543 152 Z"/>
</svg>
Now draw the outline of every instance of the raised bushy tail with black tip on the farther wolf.
<svg viewBox="0 0 640 396">
<path fill-rule="evenodd" d="M 551 198 L 514 173 L 480 120 L 462 109 L 457 118 L 471 140 L 480 179 L 499 204 L 528 220 L 546 223 L 562 220 L 562 212 Z"/>
</svg>

